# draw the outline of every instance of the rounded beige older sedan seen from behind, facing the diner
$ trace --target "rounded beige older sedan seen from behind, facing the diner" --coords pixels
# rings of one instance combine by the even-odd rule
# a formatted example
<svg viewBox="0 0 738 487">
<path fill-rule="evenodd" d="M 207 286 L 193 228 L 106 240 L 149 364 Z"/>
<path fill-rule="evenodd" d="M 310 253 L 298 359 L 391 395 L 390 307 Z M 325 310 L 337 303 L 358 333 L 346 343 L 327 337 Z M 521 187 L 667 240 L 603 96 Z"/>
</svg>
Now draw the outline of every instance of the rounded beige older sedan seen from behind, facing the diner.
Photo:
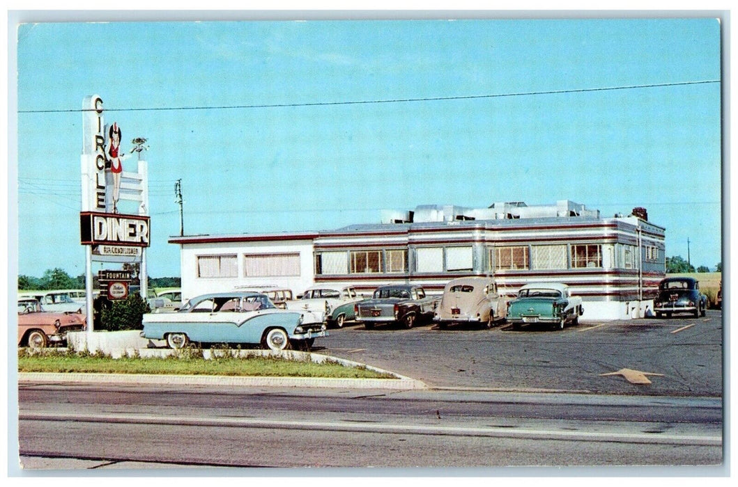
<svg viewBox="0 0 738 487">
<path fill-rule="evenodd" d="M 505 320 L 507 303 L 508 299 L 497 293 L 494 278 L 462 277 L 446 284 L 433 320 L 441 329 L 450 323 L 479 323 L 492 328 L 495 321 Z"/>
</svg>

